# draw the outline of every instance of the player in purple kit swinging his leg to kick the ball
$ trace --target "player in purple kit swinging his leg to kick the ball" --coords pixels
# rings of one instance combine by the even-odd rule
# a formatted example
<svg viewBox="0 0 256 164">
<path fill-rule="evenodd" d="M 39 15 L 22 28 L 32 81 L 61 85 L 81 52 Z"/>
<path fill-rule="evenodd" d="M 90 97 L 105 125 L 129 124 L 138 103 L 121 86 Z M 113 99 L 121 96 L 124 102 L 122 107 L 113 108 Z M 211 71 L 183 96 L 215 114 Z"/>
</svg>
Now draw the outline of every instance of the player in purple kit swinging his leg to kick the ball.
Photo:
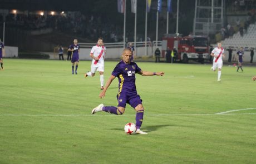
<svg viewBox="0 0 256 164">
<path fill-rule="evenodd" d="M 129 48 L 125 48 L 122 52 L 122 61 L 119 62 L 114 71 L 112 72 L 109 80 L 107 81 L 104 90 L 100 93 L 100 98 L 105 97 L 107 88 L 111 85 L 112 81 L 119 78 L 119 93 L 117 94 L 117 107 L 104 106 L 102 103 L 92 110 L 92 115 L 96 112 L 109 112 L 115 115 L 122 115 L 125 112 L 126 103 L 129 103 L 136 111 L 136 133 L 146 135 L 146 132 L 140 130 L 143 121 L 144 107 L 142 106 L 142 100 L 137 95 L 135 85 L 135 73 L 139 73 L 142 76 L 163 76 L 164 72 L 147 72 L 142 71 L 135 62 L 131 62 L 132 52 Z"/>
</svg>

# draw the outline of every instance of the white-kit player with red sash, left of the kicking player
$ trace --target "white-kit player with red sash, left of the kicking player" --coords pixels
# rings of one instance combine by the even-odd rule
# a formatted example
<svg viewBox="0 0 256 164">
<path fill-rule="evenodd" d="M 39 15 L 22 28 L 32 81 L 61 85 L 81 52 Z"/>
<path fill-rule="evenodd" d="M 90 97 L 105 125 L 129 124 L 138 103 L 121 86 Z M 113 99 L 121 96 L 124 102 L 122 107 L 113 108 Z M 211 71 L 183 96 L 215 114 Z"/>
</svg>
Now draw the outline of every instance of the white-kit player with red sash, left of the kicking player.
<svg viewBox="0 0 256 164">
<path fill-rule="evenodd" d="M 106 47 L 103 44 L 103 38 L 99 38 L 97 45 L 93 46 L 91 49 L 90 56 L 92 58 L 91 72 L 85 73 L 87 76 L 95 76 L 95 72 L 100 72 L 100 85 L 101 90 L 104 89 L 104 60 L 106 55 Z"/>
</svg>

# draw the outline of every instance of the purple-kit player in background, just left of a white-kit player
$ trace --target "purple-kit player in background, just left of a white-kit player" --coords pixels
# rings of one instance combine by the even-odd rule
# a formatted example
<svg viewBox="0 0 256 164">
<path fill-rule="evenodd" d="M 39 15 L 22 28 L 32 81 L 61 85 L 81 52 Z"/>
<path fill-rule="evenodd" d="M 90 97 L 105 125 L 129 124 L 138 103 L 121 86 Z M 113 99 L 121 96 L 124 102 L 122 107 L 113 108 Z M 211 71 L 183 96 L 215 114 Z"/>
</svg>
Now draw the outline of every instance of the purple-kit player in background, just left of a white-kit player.
<svg viewBox="0 0 256 164">
<path fill-rule="evenodd" d="M 74 74 L 74 66 L 76 64 L 76 71 L 77 74 L 77 67 L 79 62 L 79 52 L 80 52 L 80 46 L 77 44 L 77 39 L 74 39 L 74 43 L 68 48 L 68 51 L 72 51 L 72 57 L 71 57 L 71 63 L 72 63 L 72 74 Z"/>
</svg>

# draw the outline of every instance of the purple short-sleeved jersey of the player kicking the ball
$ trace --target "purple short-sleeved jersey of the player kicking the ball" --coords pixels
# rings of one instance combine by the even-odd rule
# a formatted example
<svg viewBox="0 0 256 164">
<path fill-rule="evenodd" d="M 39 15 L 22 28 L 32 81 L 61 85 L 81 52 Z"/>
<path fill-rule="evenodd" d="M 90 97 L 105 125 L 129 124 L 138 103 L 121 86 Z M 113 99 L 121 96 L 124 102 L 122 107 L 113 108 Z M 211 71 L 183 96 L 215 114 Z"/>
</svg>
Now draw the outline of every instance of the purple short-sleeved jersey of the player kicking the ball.
<svg viewBox="0 0 256 164">
<path fill-rule="evenodd" d="M 126 64 L 124 61 L 121 61 L 116 65 L 112 75 L 119 79 L 119 94 L 124 92 L 131 95 L 137 95 L 135 73 L 140 71 L 140 67 L 138 67 L 135 62 Z"/>
</svg>

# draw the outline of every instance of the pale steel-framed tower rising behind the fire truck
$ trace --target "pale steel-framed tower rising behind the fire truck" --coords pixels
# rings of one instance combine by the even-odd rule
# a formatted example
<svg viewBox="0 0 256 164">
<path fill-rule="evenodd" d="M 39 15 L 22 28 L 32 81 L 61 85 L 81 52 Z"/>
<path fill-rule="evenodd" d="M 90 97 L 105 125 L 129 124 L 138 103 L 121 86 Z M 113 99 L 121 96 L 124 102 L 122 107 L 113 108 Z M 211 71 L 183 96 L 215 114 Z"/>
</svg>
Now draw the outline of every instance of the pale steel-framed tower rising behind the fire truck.
<svg viewBox="0 0 256 164">
<path fill-rule="evenodd" d="M 223 0 L 195 0 L 193 34 L 214 34 L 223 27 Z"/>
</svg>

